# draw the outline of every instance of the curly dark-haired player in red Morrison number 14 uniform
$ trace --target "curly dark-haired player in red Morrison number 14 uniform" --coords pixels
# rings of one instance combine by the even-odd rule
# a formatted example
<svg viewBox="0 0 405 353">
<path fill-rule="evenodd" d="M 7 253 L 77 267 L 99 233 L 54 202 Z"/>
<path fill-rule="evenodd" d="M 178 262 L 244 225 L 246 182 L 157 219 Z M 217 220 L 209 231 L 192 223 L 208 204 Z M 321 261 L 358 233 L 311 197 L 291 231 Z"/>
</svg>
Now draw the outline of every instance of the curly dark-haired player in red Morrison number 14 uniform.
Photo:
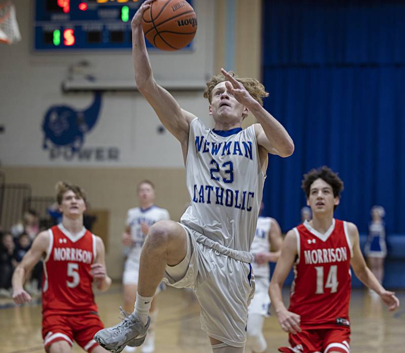
<svg viewBox="0 0 405 353">
<path fill-rule="evenodd" d="M 286 353 L 349 353 L 349 301 L 352 266 L 357 278 L 376 291 L 389 310 L 399 301 L 366 266 L 357 227 L 333 218 L 343 182 L 328 167 L 304 175 L 302 188 L 312 220 L 290 230 L 271 279 L 269 294 L 281 328 L 289 332 Z M 295 279 L 287 310 L 281 287 L 294 265 Z"/>
</svg>

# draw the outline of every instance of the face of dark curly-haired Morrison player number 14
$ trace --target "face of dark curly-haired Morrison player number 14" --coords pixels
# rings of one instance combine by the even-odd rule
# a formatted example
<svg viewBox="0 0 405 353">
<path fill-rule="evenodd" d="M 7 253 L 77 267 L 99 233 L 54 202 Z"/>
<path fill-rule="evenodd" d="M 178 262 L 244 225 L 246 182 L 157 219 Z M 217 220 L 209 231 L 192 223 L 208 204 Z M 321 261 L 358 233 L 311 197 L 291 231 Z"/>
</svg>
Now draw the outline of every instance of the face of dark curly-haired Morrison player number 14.
<svg viewBox="0 0 405 353">
<path fill-rule="evenodd" d="M 334 197 L 332 186 L 325 180 L 319 178 L 311 184 L 307 205 L 313 214 L 333 214 L 334 207 L 339 202 L 339 197 Z"/>
</svg>

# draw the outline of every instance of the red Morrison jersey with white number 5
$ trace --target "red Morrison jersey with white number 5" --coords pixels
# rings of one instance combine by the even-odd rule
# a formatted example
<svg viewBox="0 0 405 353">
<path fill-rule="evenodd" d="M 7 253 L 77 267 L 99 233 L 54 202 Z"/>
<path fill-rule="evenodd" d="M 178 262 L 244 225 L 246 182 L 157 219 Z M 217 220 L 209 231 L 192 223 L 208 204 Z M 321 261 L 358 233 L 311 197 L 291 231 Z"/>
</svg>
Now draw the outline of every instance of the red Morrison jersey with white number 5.
<svg viewBox="0 0 405 353">
<path fill-rule="evenodd" d="M 44 259 L 43 314 L 97 312 L 90 265 L 96 257 L 94 234 L 83 227 L 71 234 L 62 224 L 49 229 L 50 244 Z"/>
</svg>

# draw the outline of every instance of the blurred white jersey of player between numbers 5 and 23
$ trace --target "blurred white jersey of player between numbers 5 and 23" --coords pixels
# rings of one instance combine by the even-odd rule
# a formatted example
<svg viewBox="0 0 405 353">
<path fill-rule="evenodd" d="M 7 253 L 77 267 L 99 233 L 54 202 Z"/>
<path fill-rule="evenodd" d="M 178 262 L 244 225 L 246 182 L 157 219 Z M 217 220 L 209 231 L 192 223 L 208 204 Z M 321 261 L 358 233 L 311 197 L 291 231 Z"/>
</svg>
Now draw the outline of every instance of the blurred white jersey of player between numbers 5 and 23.
<svg viewBox="0 0 405 353">
<path fill-rule="evenodd" d="M 170 219 L 168 210 L 157 206 L 152 206 L 147 209 L 140 207 L 131 208 L 128 211 L 127 226 L 131 228 L 133 245 L 128 254 L 128 257 L 133 259 L 139 258 L 143 243 L 147 234 L 144 234 L 141 229 L 141 223 L 146 223 L 149 227 L 160 220 Z"/>
</svg>

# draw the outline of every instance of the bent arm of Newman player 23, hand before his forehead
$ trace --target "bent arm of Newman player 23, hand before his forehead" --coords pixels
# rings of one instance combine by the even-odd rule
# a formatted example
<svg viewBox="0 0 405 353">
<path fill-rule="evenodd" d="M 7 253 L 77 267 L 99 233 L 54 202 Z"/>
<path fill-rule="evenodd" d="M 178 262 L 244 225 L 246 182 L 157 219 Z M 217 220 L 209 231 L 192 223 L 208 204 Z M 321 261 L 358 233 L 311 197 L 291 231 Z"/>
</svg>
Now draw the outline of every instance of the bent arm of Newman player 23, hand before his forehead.
<svg viewBox="0 0 405 353">
<path fill-rule="evenodd" d="M 221 72 L 227 77 L 229 83 L 227 89 L 233 94 L 239 103 L 245 105 L 259 124 L 255 124 L 257 143 L 263 146 L 267 152 L 288 157 L 294 152 L 294 142 L 287 130 L 271 115 L 262 105 L 254 99 L 247 89 L 224 69 Z M 266 95 L 268 95 L 266 93 Z"/>
</svg>

